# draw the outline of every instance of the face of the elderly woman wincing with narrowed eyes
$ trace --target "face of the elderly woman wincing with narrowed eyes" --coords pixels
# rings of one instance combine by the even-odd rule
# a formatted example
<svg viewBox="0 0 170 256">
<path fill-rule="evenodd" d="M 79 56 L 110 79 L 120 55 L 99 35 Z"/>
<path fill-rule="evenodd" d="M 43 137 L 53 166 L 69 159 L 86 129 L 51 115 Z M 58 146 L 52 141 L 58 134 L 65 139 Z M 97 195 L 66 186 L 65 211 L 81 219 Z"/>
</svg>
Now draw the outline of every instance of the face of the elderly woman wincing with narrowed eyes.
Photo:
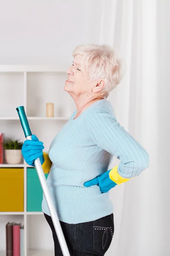
<svg viewBox="0 0 170 256">
<path fill-rule="evenodd" d="M 88 72 L 85 67 L 85 59 L 81 55 L 74 58 L 73 64 L 67 70 L 67 80 L 65 81 L 64 90 L 76 97 L 84 94 L 90 96 L 94 83 L 89 82 Z"/>
</svg>

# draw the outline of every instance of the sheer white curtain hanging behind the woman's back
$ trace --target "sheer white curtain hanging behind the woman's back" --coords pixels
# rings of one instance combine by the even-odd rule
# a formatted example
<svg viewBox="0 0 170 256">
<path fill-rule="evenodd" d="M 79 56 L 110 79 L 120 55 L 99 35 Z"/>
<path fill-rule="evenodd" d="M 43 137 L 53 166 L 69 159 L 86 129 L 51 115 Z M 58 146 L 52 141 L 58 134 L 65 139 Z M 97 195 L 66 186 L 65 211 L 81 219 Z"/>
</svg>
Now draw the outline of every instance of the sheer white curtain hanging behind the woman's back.
<svg viewBox="0 0 170 256">
<path fill-rule="evenodd" d="M 105 0 L 99 43 L 126 73 L 109 95 L 120 124 L 148 151 L 150 167 L 111 190 L 115 233 L 107 256 L 170 255 L 170 1 Z M 118 164 L 114 159 L 111 168 Z"/>
</svg>

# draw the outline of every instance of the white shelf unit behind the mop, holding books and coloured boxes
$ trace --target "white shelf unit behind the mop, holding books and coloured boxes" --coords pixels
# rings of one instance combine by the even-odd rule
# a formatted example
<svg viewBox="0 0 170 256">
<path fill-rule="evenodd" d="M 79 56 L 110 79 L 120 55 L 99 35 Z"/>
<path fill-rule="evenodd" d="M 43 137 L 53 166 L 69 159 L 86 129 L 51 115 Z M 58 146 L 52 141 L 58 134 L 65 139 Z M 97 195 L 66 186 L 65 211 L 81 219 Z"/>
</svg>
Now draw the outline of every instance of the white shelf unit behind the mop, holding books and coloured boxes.
<svg viewBox="0 0 170 256">
<path fill-rule="evenodd" d="M 51 141 L 75 110 L 73 99 L 63 89 L 65 70 L 46 65 L 0 65 L 0 133 L 5 134 L 5 139 L 25 140 L 16 111 L 24 106 L 32 134 L 48 151 Z M 46 117 L 48 102 L 54 103 L 54 117 Z M 6 223 L 19 221 L 24 224 L 24 256 L 54 256 L 52 233 L 43 213 L 26 209 L 27 168 L 32 166 L 24 160 L 17 165 L 0 165 L 8 167 L 24 169 L 24 212 L 0 212 L 0 255 L 6 255 Z"/>
</svg>

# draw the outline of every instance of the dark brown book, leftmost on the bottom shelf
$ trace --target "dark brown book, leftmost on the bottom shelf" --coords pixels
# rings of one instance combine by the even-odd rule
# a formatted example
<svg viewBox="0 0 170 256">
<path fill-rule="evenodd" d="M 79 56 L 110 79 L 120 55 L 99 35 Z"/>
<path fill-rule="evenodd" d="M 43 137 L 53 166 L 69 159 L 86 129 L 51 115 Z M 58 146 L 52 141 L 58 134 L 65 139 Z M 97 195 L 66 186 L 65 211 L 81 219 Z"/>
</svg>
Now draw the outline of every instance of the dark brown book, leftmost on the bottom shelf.
<svg viewBox="0 0 170 256">
<path fill-rule="evenodd" d="M 13 224 L 6 224 L 6 256 L 13 256 Z"/>
</svg>

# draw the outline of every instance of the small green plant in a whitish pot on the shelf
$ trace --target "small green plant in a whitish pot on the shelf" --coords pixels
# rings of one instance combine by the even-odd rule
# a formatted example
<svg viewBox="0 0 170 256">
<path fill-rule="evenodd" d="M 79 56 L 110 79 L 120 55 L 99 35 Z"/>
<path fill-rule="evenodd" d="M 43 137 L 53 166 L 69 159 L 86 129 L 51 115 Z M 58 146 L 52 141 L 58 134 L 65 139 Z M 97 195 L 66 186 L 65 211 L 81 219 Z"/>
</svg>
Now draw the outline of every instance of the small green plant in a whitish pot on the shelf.
<svg viewBox="0 0 170 256">
<path fill-rule="evenodd" d="M 8 139 L 5 143 L 3 143 L 3 147 L 5 148 L 5 159 L 6 163 L 9 164 L 18 164 L 22 160 L 22 142 L 20 140 L 11 140 Z"/>
</svg>

